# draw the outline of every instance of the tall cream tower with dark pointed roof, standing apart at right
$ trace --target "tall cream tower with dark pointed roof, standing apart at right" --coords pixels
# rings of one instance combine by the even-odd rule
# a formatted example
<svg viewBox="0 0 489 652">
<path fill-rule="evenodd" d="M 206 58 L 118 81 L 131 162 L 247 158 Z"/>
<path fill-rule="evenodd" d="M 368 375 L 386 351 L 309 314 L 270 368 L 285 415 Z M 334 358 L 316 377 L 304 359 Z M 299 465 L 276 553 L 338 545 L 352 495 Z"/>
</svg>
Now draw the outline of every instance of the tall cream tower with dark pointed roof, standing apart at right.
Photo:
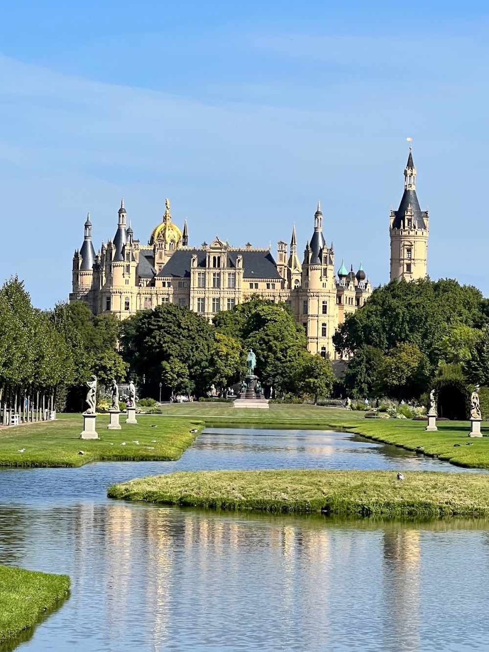
<svg viewBox="0 0 489 652">
<path fill-rule="evenodd" d="M 391 211 L 391 280 L 415 280 L 426 276 L 428 211 L 421 211 L 416 195 L 416 168 L 409 147 L 404 170 L 404 194 L 397 211 Z"/>
</svg>

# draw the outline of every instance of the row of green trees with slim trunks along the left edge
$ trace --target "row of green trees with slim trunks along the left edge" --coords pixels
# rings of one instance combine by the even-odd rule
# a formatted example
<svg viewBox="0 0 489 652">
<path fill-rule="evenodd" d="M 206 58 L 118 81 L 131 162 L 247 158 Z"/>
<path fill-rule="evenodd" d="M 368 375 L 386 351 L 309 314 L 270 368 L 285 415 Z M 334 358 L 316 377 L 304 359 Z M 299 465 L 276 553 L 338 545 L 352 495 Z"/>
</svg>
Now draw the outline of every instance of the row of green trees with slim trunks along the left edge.
<svg viewBox="0 0 489 652">
<path fill-rule="evenodd" d="M 12 414 L 42 420 L 46 411 L 63 408 L 70 393 L 80 409 L 81 386 L 93 373 L 102 381 L 124 378 L 118 328 L 113 316 L 94 318 L 85 304 L 37 310 L 23 283 L 8 280 L 0 288 L 1 423 Z"/>
</svg>

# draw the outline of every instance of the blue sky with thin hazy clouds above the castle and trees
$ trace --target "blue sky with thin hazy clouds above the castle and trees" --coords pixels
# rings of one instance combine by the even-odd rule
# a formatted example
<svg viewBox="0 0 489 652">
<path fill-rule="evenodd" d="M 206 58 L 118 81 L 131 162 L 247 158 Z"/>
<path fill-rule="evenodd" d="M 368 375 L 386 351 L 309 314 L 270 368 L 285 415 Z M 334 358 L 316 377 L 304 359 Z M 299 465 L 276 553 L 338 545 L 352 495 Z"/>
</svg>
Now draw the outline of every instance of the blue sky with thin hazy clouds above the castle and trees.
<svg viewBox="0 0 489 652">
<path fill-rule="evenodd" d="M 190 244 L 327 242 L 389 280 L 413 138 L 428 273 L 489 295 L 482 2 L 18 0 L 0 9 L 0 279 L 67 299 L 90 211 L 145 243 L 170 198 Z"/>
</svg>

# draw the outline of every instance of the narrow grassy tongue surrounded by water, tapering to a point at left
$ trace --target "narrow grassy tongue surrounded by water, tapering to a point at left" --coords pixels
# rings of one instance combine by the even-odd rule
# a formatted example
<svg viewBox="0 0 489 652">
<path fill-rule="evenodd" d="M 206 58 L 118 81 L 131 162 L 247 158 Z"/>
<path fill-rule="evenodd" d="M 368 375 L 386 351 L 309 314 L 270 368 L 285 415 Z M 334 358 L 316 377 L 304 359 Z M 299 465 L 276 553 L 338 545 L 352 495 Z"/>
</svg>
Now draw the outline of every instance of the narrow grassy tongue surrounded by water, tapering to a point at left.
<svg viewBox="0 0 489 652">
<path fill-rule="evenodd" d="M 344 516 L 488 516 L 486 474 L 413 471 L 190 471 L 113 484 L 108 496 L 213 509 Z"/>
</svg>

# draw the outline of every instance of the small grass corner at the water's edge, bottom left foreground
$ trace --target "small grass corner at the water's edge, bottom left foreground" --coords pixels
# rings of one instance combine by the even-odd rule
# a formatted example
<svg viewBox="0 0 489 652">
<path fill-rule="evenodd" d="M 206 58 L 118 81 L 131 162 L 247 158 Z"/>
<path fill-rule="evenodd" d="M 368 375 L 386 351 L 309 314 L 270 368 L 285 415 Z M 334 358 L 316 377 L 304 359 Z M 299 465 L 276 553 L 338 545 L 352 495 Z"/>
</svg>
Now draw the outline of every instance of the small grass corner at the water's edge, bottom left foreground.
<svg viewBox="0 0 489 652">
<path fill-rule="evenodd" d="M 0 566 L 0 644 L 15 640 L 65 599 L 67 575 Z"/>
</svg>

